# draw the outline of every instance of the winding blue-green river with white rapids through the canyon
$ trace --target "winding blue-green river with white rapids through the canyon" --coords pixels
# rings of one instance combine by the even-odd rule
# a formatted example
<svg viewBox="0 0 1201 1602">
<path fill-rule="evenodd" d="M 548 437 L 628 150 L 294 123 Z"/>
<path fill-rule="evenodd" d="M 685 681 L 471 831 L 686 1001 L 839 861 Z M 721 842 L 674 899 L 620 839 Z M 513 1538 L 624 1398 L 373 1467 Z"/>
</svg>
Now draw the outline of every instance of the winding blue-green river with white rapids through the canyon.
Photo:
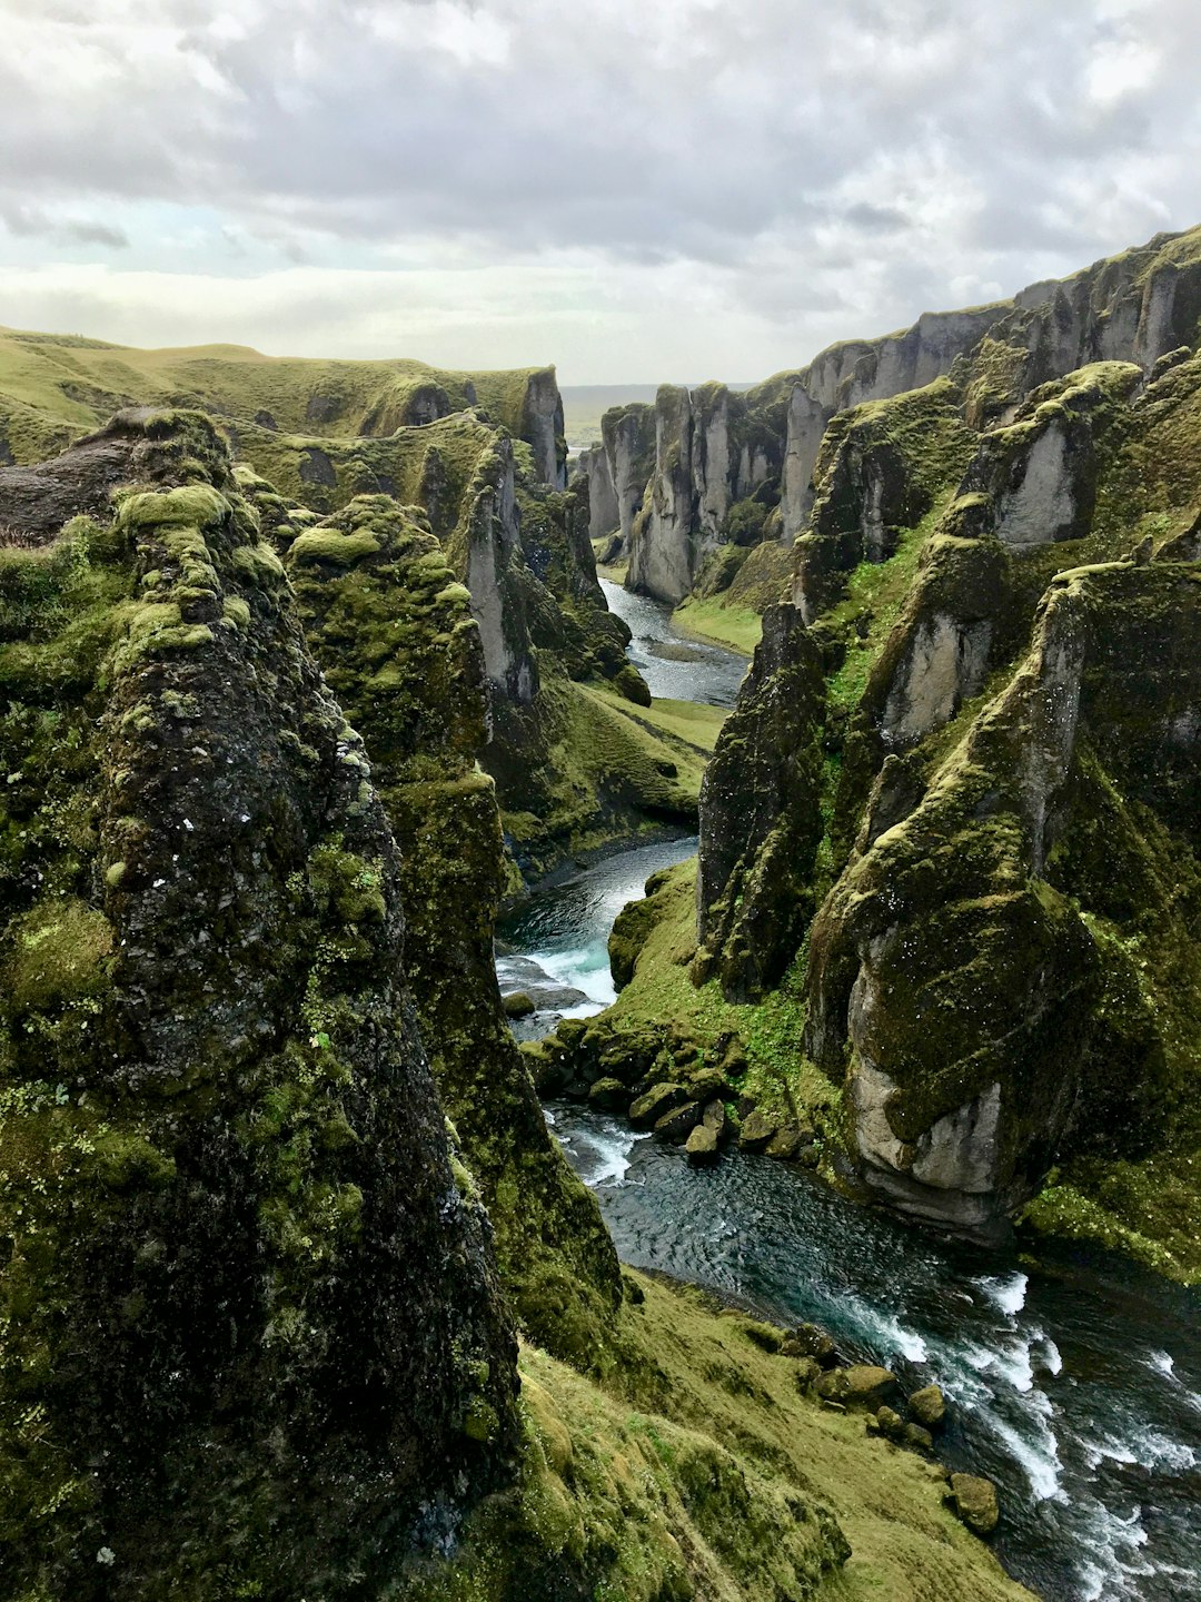
<svg viewBox="0 0 1201 1602">
<path fill-rule="evenodd" d="M 666 610 L 623 591 L 618 604 L 636 630 L 631 658 L 649 660 L 665 694 L 649 647 L 676 639 Z M 727 682 L 743 666 L 729 658 Z M 671 679 L 676 698 L 682 682 Z M 576 1016 L 607 1004 L 613 916 L 695 846 L 642 846 L 532 897 L 503 931 L 503 988 L 516 988 L 504 964 L 525 963 L 578 998 Z M 994 1546 L 1015 1578 L 1052 1602 L 1201 1596 L 1196 1291 L 1084 1248 L 1041 1250 L 1034 1267 L 1012 1246 L 945 1242 L 764 1157 L 727 1152 L 693 1169 L 677 1147 L 586 1107 L 551 1104 L 546 1117 L 625 1262 L 781 1323 L 821 1323 L 849 1357 L 892 1367 L 910 1389 L 942 1384 L 953 1408 L 940 1458 L 998 1482 Z"/>
</svg>

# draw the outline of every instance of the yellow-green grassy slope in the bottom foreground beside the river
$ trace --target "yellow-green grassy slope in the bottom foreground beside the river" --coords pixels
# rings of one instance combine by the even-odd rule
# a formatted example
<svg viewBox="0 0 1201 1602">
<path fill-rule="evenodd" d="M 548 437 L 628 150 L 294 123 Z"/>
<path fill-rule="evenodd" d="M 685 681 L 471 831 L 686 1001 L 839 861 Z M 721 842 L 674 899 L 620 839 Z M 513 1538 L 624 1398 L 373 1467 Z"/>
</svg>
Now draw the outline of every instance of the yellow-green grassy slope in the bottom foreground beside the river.
<svg viewBox="0 0 1201 1602">
<path fill-rule="evenodd" d="M 522 1482 L 404 1602 L 1030 1596 L 946 1512 L 940 1471 L 802 1394 L 761 1325 L 625 1278 L 623 1367 L 597 1387 L 522 1350 Z"/>
</svg>

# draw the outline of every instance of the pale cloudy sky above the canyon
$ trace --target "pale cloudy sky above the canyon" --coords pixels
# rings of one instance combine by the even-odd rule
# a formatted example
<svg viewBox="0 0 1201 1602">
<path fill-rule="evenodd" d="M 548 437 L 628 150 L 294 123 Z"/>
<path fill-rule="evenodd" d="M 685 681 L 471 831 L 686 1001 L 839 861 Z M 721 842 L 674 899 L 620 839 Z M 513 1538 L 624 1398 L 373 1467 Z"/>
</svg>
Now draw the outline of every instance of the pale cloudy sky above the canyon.
<svg viewBox="0 0 1201 1602">
<path fill-rule="evenodd" d="M 0 324 L 751 380 L 1201 223 L 1196 0 L 0 0 Z"/>
</svg>

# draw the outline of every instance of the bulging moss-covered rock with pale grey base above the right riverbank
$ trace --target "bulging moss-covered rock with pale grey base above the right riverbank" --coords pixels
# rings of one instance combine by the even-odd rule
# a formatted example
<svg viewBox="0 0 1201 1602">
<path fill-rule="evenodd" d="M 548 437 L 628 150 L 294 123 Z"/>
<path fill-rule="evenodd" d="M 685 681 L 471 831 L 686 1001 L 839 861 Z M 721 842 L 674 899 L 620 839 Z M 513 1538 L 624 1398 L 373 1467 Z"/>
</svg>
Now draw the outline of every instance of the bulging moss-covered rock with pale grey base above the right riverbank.
<svg viewBox="0 0 1201 1602">
<path fill-rule="evenodd" d="M 1199 606 L 1185 567 L 1062 575 L 1010 687 L 815 921 L 807 1045 L 831 1072 L 850 1045 L 857 1150 L 897 1205 L 982 1221 L 1057 1152 L 1159 1144 L 1188 1099 Z M 1140 939 L 1169 942 L 1169 987 Z"/>
</svg>

